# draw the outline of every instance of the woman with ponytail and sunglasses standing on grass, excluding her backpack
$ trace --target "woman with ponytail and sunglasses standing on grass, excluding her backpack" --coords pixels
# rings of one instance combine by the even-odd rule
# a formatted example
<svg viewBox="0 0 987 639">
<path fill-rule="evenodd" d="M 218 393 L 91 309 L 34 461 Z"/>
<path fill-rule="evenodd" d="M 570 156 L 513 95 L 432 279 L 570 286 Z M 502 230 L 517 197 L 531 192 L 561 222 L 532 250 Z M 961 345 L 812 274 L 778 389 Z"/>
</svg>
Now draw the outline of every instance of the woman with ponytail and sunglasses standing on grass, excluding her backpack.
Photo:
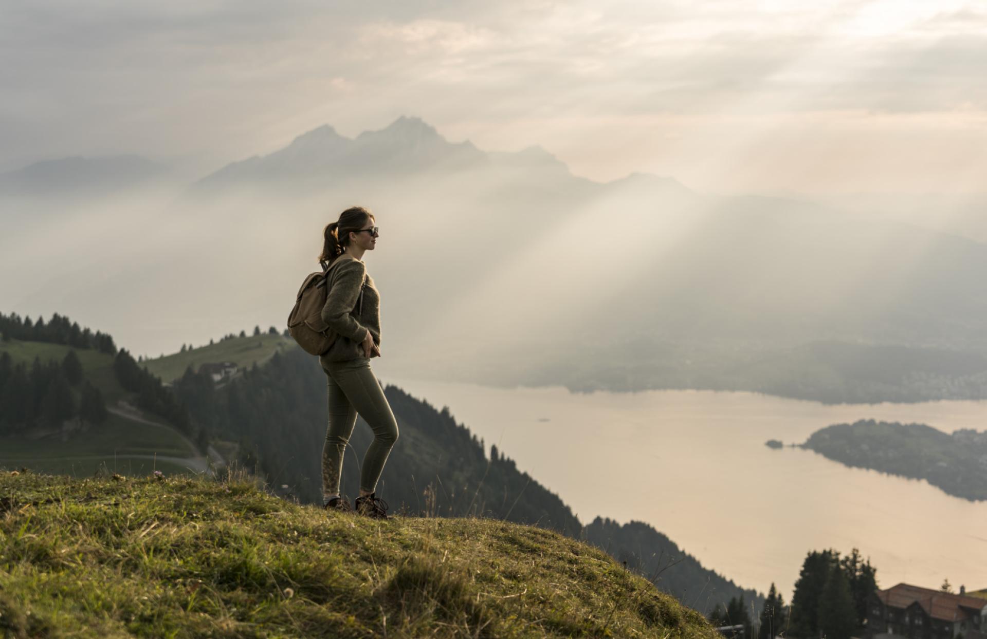
<svg viewBox="0 0 987 639">
<path fill-rule="evenodd" d="M 320 356 L 329 378 L 329 429 L 322 452 L 323 507 L 353 511 L 375 519 L 392 519 L 387 502 L 374 493 L 384 462 L 398 439 L 398 422 L 370 370 L 380 357 L 380 294 L 366 274 L 363 253 L 377 244 L 370 211 L 348 208 L 326 227 L 321 260 L 333 266 L 322 319 L 338 334 L 333 347 Z M 342 260 L 342 261 L 340 261 Z M 373 429 L 374 440 L 360 465 L 360 496 L 352 507 L 340 496 L 342 454 L 359 413 Z"/>
</svg>

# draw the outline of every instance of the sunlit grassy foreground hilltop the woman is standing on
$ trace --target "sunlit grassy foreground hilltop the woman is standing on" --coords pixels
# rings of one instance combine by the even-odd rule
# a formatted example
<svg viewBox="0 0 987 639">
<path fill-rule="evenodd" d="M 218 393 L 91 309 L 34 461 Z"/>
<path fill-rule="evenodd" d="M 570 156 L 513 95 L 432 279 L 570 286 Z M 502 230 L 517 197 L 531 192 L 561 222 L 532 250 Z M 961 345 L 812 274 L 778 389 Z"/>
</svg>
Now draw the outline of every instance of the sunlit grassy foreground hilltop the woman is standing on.
<svg viewBox="0 0 987 639">
<path fill-rule="evenodd" d="M 718 637 L 602 550 L 379 522 L 246 478 L 0 476 L 0 629 L 27 637 Z"/>
</svg>

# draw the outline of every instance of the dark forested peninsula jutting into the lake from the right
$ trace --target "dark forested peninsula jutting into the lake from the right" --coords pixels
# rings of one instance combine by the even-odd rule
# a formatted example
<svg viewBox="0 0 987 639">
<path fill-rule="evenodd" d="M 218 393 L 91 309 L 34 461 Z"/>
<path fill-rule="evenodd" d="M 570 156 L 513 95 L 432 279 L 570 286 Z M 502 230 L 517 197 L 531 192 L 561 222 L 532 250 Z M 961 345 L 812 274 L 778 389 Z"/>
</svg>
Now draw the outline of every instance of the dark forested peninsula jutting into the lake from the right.
<svg viewBox="0 0 987 639">
<path fill-rule="evenodd" d="M 987 431 L 950 435 L 925 424 L 868 419 L 827 426 L 800 446 L 848 466 L 925 479 L 950 495 L 987 500 Z"/>
</svg>

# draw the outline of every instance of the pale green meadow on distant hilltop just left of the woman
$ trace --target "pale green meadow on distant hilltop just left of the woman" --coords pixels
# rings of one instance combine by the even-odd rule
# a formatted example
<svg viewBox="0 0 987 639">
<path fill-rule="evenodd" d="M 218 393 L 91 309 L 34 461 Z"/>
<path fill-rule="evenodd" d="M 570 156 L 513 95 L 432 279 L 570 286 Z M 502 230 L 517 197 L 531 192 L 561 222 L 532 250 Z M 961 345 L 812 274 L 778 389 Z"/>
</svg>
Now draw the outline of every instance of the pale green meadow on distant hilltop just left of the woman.
<svg viewBox="0 0 987 639">
<path fill-rule="evenodd" d="M 197 371 L 201 364 L 219 362 L 235 362 L 241 369 L 250 368 L 255 362 L 261 366 L 276 351 L 295 346 L 295 341 L 290 337 L 264 333 L 250 337 L 234 337 L 209 346 L 193 348 L 184 353 L 144 360 L 141 365 L 160 377 L 163 382 L 173 382 L 181 378 L 190 366 L 193 371 Z"/>
</svg>

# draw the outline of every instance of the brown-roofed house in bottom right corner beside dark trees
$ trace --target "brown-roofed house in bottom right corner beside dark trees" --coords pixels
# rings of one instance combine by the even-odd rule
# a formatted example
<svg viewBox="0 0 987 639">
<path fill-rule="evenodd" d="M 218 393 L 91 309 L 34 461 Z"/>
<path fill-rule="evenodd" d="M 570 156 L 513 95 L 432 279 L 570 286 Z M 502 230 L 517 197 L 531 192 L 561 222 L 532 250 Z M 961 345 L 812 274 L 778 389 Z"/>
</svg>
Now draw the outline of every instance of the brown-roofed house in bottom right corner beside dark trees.
<svg viewBox="0 0 987 639">
<path fill-rule="evenodd" d="M 871 596 L 867 627 L 872 639 L 987 639 L 987 600 L 898 584 Z"/>
</svg>

